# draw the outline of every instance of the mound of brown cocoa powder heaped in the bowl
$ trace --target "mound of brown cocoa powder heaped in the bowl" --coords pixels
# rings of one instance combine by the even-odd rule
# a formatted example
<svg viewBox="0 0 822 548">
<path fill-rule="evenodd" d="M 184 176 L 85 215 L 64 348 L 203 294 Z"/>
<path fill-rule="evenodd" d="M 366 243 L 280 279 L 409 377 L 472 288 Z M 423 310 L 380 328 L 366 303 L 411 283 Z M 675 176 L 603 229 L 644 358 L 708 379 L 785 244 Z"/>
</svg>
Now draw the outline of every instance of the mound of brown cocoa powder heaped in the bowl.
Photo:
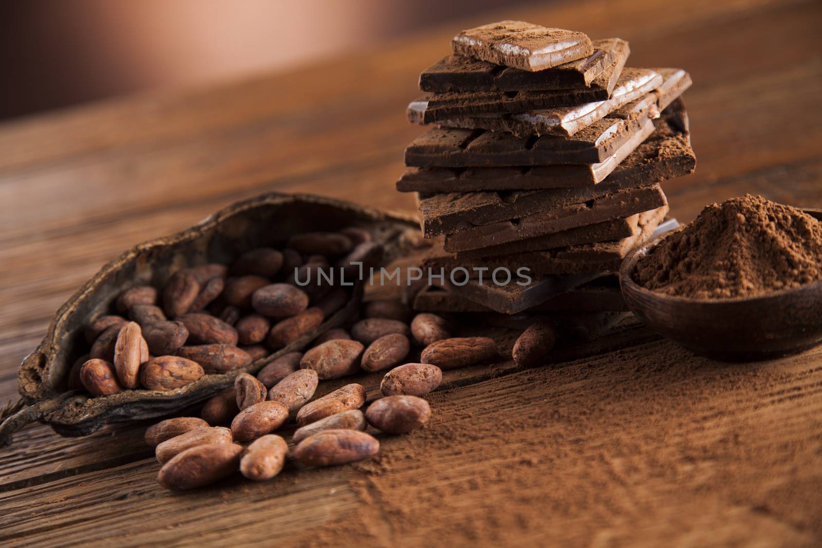
<svg viewBox="0 0 822 548">
<path fill-rule="evenodd" d="M 822 279 L 822 223 L 746 195 L 707 206 L 637 262 L 644 288 L 682 297 L 753 297 Z"/>
</svg>

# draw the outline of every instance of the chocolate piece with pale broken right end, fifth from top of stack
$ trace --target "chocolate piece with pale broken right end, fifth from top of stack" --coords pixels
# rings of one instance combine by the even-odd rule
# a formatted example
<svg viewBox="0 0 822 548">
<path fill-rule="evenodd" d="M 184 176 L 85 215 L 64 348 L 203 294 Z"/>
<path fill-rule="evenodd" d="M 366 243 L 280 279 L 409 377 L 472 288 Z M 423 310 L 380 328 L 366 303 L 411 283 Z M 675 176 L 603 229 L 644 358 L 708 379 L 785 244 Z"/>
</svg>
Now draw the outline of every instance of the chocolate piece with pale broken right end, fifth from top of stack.
<svg viewBox="0 0 822 548">
<path fill-rule="evenodd" d="M 649 117 L 604 117 L 574 136 L 517 137 L 507 131 L 435 127 L 405 149 L 405 165 L 421 168 L 600 163 L 641 131 Z M 656 109 L 653 113 L 658 116 Z"/>
</svg>

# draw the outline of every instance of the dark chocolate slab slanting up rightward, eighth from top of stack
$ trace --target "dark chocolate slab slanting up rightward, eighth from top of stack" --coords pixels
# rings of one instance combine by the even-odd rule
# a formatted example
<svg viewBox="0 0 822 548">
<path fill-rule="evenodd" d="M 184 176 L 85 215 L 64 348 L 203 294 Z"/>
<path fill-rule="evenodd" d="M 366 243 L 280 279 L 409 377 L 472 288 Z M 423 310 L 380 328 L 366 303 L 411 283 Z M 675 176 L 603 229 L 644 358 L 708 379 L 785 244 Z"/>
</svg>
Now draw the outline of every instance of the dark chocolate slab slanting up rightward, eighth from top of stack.
<svg viewBox="0 0 822 548">
<path fill-rule="evenodd" d="M 451 252 L 465 251 L 516 242 L 529 237 L 558 233 L 569 228 L 655 210 L 663 205 L 667 205 L 667 200 L 659 185 L 617 191 L 584 204 L 566 205 L 556 210 L 541 211 L 520 219 L 483 224 L 448 234 L 445 249 Z"/>
</svg>

